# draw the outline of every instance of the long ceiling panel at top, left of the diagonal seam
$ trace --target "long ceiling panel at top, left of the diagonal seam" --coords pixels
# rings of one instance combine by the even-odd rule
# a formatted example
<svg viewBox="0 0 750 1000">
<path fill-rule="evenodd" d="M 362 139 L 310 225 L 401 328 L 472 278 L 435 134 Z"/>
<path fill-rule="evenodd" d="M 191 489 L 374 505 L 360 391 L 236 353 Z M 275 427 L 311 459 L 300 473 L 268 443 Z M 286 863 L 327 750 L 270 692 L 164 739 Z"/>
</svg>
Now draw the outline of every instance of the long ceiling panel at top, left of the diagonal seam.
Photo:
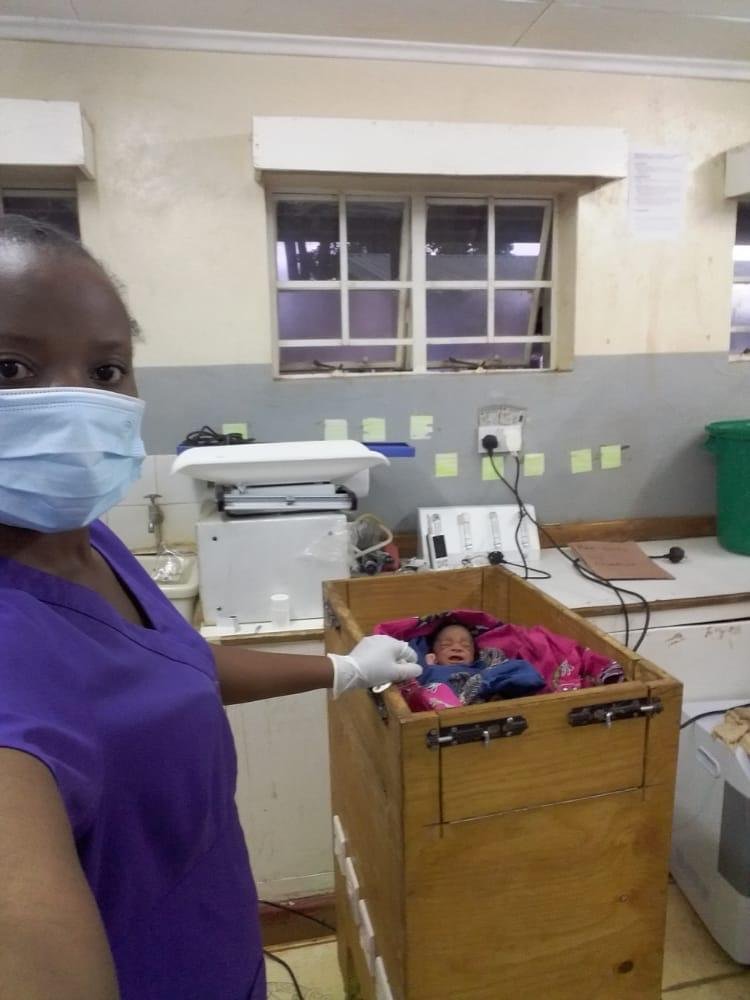
<svg viewBox="0 0 750 1000">
<path fill-rule="evenodd" d="M 82 21 L 485 45 L 513 45 L 547 5 L 547 0 L 463 5 L 455 0 L 75 0 Z"/>
</svg>

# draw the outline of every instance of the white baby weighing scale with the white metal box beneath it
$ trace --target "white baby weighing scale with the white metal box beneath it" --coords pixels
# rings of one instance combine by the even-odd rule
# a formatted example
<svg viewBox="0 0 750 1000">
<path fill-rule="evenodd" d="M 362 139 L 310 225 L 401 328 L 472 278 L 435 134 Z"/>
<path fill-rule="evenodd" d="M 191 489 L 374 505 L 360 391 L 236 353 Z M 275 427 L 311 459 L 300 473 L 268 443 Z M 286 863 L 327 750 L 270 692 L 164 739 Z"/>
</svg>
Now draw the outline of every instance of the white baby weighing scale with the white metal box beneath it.
<svg viewBox="0 0 750 1000">
<path fill-rule="evenodd" d="M 189 448 L 172 472 L 215 486 L 196 525 L 208 625 L 322 618 L 322 582 L 349 576 L 346 511 L 388 459 L 358 441 L 288 441 Z"/>
</svg>

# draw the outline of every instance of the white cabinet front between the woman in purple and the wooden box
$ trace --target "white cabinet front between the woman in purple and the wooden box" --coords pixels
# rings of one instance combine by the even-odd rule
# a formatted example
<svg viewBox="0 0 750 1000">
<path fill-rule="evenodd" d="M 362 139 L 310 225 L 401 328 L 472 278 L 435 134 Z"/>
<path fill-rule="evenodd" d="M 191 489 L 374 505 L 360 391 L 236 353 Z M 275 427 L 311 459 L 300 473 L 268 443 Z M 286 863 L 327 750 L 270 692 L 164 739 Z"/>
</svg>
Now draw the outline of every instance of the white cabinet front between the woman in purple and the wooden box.
<svg viewBox="0 0 750 1000">
<path fill-rule="evenodd" d="M 253 645 L 321 654 L 322 640 Z M 237 808 L 262 899 L 333 890 L 327 693 L 227 709 L 237 747 Z"/>
</svg>

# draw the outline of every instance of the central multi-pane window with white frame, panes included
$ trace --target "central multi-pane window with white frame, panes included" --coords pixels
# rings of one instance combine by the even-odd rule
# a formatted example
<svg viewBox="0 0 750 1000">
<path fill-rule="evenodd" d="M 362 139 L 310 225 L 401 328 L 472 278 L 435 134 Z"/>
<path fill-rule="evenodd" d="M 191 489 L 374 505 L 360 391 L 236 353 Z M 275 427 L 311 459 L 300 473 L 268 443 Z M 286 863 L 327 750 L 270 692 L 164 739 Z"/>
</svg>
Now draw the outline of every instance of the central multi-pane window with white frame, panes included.
<svg viewBox="0 0 750 1000">
<path fill-rule="evenodd" d="M 271 196 L 278 371 L 551 368 L 553 204 Z"/>
</svg>

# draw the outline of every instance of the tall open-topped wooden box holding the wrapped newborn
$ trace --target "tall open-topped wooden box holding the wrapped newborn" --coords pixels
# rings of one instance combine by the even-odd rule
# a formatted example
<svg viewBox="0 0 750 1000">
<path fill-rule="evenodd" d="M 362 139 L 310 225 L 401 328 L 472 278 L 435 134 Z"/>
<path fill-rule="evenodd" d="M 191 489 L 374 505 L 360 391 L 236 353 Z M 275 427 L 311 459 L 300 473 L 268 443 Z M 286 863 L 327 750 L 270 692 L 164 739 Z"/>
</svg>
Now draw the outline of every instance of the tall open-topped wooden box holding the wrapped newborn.
<svg viewBox="0 0 750 1000">
<path fill-rule="evenodd" d="M 628 679 L 439 713 L 396 688 L 330 702 L 347 995 L 657 1000 L 679 682 L 500 567 L 326 584 L 326 648 L 452 608 L 545 625 Z"/>
</svg>

